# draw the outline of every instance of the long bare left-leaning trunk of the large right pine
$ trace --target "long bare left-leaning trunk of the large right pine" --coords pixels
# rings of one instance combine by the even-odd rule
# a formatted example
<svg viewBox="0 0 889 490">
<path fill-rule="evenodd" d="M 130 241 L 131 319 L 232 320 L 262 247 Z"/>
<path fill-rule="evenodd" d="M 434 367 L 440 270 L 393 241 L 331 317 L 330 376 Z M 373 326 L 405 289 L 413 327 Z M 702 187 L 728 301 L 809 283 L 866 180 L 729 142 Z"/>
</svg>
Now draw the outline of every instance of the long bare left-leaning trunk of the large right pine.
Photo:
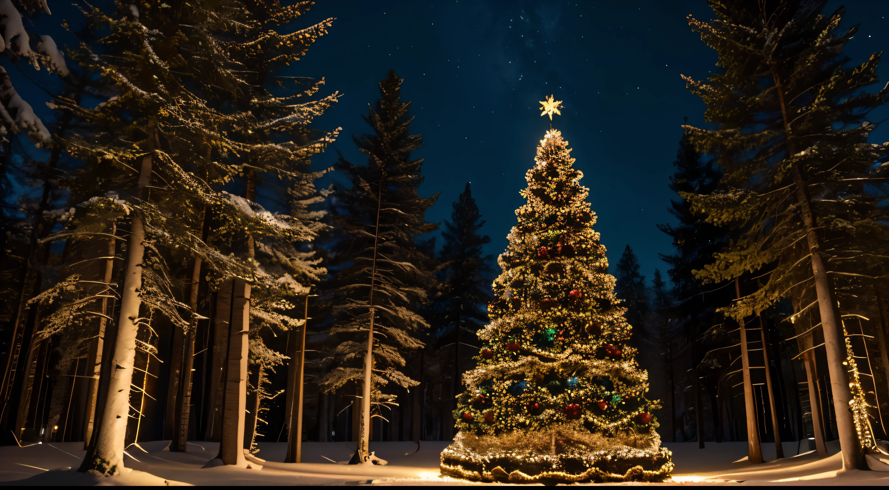
<svg viewBox="0 0 889 490">
<path fill-rule="evenodd" d="M 787 154 L 796 154 L 795 140 L 790 130 L 788 107 L 784 103 L 784 89 L 781 86 L 781 77 L 777 70 L 773 70 L 775 88 L 778 91 L 778 99 L 781 104 L 781 115 L 784 118 L 784 137 L 787 146 Z M 828 370 L 830 374 L 830 388 L 833 393 L 834 412 L 837 417 L 837 432 L 839 445 L 843 451 L 843 468 L 846 470 L 864 470 L 867 464 L 864 462 L 864 453 L 861 442 L 855 428 L 852 412 L 849 410 L 849 402 L 852 401 L 852 391 L 849 389 L 849 380 L 843 367 L 845 360 L 845 336 L 843 324 L 837 312 L 837 304 L 834 300 L 833 288 L 828 279 L 828 270 L 824 258 L 821 257 L 821 243 L 818 238 L 815 217 L 812 211 L 812 201 L 809 197 L 808 182 L 803 177 L 802 165 L 793 163 L 793 183 L 797 191 L 797 203 L 800 215 L 805 227 L 806 245 L 811 254 L 812 273 L 815 280 L 815 292 L 818 297 L 818 310 L 821 313 L 821 330 L 824 333 L 824 350 L 828 357 Z"/>
</svg>

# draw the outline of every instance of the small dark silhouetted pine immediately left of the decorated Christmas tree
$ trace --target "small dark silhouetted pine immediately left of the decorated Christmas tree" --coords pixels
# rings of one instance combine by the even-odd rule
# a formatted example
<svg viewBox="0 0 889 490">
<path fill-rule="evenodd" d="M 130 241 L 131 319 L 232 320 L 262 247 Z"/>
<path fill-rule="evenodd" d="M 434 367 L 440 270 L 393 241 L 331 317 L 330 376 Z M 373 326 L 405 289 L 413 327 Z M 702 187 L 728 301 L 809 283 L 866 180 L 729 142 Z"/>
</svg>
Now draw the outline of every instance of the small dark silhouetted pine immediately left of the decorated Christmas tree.
<svg viewBox="0 0 889 490">
<path fill-rule="evenodd" d="M 444 336 L 453 343 L 453 395 L 462 391 L 461 375 L 465 369 L 469 338 L 476 336 L 488 315 L 480 306 L 490 300 L 488 274 L 492 272 L 492 256 L 482 257 L 482 247 L 491 243 L 491 237 L 479 234 L 485 225 L 472 197 L 469 183 L 453 202 L 451 221 L 445 221 L 442 238 L 444 246 L 439 255 L 441 261 L 441 296 L 436 296 L 433 327 L 442 330 Z M 447 335 L 445 331 L 453 332 Z M 455 407 L 451 407 L 453 410 Z"/>
</svg>

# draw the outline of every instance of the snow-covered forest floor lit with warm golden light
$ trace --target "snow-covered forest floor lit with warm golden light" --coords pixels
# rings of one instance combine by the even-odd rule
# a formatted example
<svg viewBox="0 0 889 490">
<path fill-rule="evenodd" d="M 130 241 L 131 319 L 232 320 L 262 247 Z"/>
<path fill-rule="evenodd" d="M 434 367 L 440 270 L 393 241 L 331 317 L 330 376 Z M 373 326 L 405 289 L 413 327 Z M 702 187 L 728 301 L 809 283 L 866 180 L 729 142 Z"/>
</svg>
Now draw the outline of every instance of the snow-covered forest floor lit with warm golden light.
<svg viewBox="0 0 889 490">
<path fill-rule="evenodd" d="M 747 443 L 707 443 L 699 449 L 697 443 L 668 444 L 673 451 L 676 485 L 889 485 L 889 472 L 842 470 L 841 454 L 836 442 L 829 443 L 831 455 L 819 458 L 805 454 L 807 443 L 784 444 L 784 453 L 804 454 L 751 465 L 744 461 Z M 438 476 L 438 454 L 447 446 L 444 441 L 424 441 L 417 451 L 412 442 L 371 443 L 372 451 L 388 460 L 386 466 L 348 466 L 333 461 L 347 460 L 353 443 L 303 443 L 300 464 L 283 462 L 284 443 L 260 443 L 260 453 L 268 460 L 261 470 L 242 470 L 217 467 L 202 469 L 217 454 L 217 443 L 194 443 L 187 454 L 163 450 L 165 441 L 142 443 L 148 452 L 131 447 L 128 453 L 139 461 L 126 457 L 132 468 L 120 478 L 99 478 L 100 483 L 117 485 L 191 484 L 191 485 L 480 485 L 454 478 Z M 774 459 L 774 445 L 764 444 L 766 460 Z M 67 470 L 77 467 L 84 455 L 83 443 L 66 442 L 29 447 L 0 447 L 0 485 L 94 485 L 96 478 Z M 156 475 L 159 478 L 151 478 Z M 639 485 L 639 484 L 626 484 Z M 665 485 L 665 484 L 655 484 Z M 667 484 L 669 485 L 669 483 Z"/>
</svg>

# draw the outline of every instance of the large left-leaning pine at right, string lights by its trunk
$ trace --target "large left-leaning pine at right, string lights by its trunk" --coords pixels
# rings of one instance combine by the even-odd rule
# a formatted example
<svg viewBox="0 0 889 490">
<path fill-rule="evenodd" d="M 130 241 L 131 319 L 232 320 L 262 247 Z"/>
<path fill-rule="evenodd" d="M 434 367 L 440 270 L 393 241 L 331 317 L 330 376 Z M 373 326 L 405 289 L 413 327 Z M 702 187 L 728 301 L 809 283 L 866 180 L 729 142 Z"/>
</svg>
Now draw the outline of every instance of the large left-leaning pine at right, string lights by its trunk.
<svg viewBox="0 0 889 490">
<path fill-rule="evenodd" d="M 886 92 L 861 91 L 877 81 L 879 55 L 845 67 L 849 59 L 840 53 L 858 28 L 839 32 L 845 9 L 822 15 L 825 3 L 710 1 L 716 20 L 689 18 L 717 50 L 722 70 L 706 83 L 685 77 L 717 128 L 687 129 L 699 150 L 717 155 L 726 188 L 683 197 L 710 223 L 737 233 L 699 277 L 718 283 L 774 265 L 760 280 L 764 287 L 737 302 L 737 320 L 786 295 L 816 302 L 844 464 L 862 468 L 862 446 L 873 442 L 860 385 L 850 383 L 843 365 L 851 358 L 836 279 L 859 273 L 845 272 L 836 258 L 856 235 L 876 228 L 870 217 L 877 199 L 861 186 L 882 177 L 874 162 L 885 159 L 885 148 L 867 144 L 876 124 L 865 118 Z"/>
</svg>

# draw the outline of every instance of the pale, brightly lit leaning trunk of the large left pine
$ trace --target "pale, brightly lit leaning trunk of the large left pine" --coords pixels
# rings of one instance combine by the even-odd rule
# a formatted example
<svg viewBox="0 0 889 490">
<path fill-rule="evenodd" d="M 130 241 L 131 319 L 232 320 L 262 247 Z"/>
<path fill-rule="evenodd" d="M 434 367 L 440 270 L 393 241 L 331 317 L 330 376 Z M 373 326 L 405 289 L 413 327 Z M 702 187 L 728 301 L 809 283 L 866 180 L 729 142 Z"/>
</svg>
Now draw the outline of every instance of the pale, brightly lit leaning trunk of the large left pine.
<svg viewBox="0 0 889 490">
<path fill-rule="evenodd" d="M 136 195 L 151 180 L 152 154 L 142 158 L 139 184 Z M 145 256 L 145 228 L 142 218 L 132 214 L 130 237 L 127 240 L 126 273 L 121 289 L 120 318 L 117 321 L 117 336 L 113 356 L 114 366 L 108 381 L 108 396 L 105 400 L 104 415 L 99 431 L 93 431 L 96 443 L 87 451 L 80 471 L 97 470 L 104 475 L 112 475 L 124 470 L 124 439 L 126 423 L 130 415 L 130 386 L 136 356 L 136 335 L 139 333 L 139 310 L 142 300 L 139 289 L 142 286 L 142 259 Z"/>
</svg>

